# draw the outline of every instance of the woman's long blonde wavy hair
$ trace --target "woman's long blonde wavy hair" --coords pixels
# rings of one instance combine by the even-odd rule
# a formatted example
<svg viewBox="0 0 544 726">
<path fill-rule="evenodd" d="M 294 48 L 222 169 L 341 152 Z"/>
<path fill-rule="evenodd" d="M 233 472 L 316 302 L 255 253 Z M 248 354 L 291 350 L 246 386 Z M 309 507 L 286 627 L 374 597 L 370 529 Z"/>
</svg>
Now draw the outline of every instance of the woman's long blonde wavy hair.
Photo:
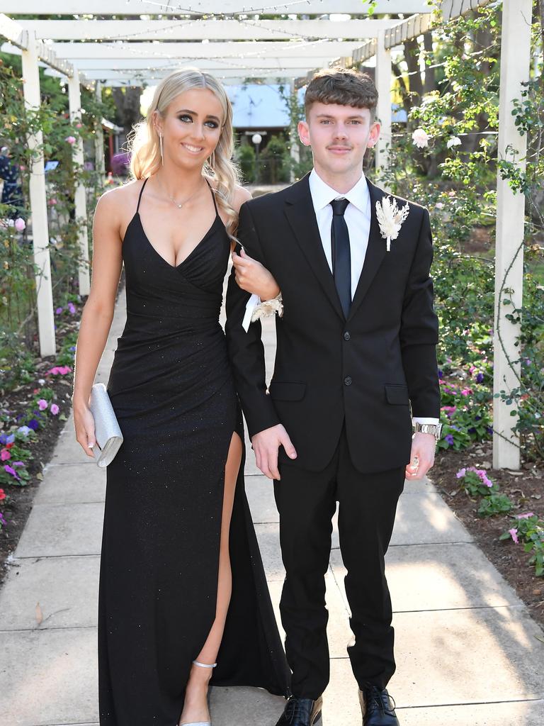
<svg viewBox="0 0 544 726">
<path fill-rule="evenodd" d="M 234 232 L 238 225 L 238 215 L 234 211 L 234 195 L 239 182 L 239 171 L 234 164 L 234 131 L 232 129 L 232 105 L 221 83 L 198 68 L 181 68 L 170 73 L 157 86 L 153 100 L 147 110 L 144 121 L 133 127 L 128 139 L 128 150 L 131 152 L 131 176 L 133 179 L 147 179 L 156 174 L 161 167 L 159 135 L 154 128 L 155 111 L 165 117 L 168 106 L 173 99 L 185 91 L 193 89 L 209 89 L 221 103 L 223 120 L 221 136 L 215 147 L 214 162 L 208 159 L 202 169 L 212 188 L 218 204 L 227 217 L 226 229 L 229 237 L 236 240 Z"/>
</svg>

